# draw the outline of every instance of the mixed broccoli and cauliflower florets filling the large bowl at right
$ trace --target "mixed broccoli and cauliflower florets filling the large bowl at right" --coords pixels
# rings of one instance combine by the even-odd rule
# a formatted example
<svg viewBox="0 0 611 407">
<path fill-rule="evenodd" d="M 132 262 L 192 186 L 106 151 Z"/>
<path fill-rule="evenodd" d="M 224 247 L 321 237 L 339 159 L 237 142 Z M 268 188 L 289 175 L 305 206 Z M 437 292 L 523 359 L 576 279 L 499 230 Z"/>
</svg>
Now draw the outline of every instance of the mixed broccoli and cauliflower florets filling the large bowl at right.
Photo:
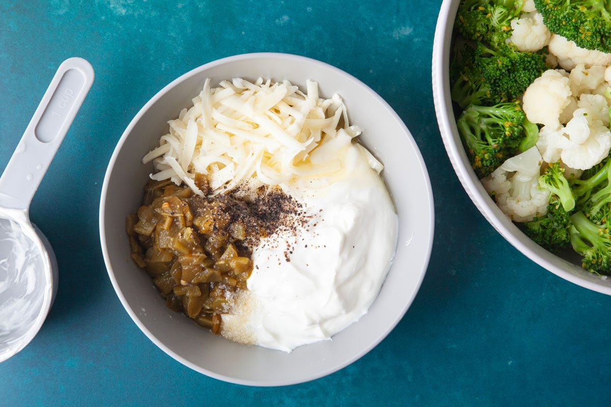
<svg viewBox="0 0 611 407">
<path fill-rule="evenodd" d="M 486 2 L 488 9 L 505 7 L 507 12 L 484 16 L 488 9 L 480 3 L 461 2 L 455 26 L 465 38 L 456 43 L 465 44 L 458 47 L 450 70 L 458 131 L 472 167 L 499 208 L 536 243 L 554 253 L 573 248 L 583 257 L 585 269 L 611 275 L 611 245 L 606 240 L 611 219 L 611 54 L 605 53 L 611 51 L 611 6 L 596 0 L 535 0 L 539 15 L 530 4 L 492 1 Z M 506 20 L 521 11 L 532 14 L 513 18 L 511 29 L 497 24 L 500 16 Z M 545 48 L 535 50 L 547 36 L 541 16 L 553 33 L 549 52 L 569 71 L 549 67 L 554 58 L 546 56 L 545 69 L 535 77 L 521 76 L 527 87 L 519 92 L 491 85 L 479 60 L 508 54 L 503 48 L 513 49 L 513 60 L 533 52 L 546 55 Z M 473 21 L 486 27 L 485 35 L 470 34 L 466 27 L 473 27 Z M 499 43 L 509 31 L 515 41 Z M 497 62 L 503 65 L 501 59 Z M 514 106 L 526 118 L 508 115 L 506 109 L 500 115 L 499 106 Z"/>
</svg>

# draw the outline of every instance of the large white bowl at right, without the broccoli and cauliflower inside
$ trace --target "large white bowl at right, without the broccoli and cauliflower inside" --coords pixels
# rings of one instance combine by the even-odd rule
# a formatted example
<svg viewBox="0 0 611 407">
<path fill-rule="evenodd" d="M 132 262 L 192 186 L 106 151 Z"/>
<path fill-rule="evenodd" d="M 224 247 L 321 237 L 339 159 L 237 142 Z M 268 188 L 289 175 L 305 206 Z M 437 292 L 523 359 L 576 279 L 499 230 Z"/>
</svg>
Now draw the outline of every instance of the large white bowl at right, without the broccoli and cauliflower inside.
<svg viewBox="0 0 611 407">
<path fill-rule="evenodd" d="M 459 3 L 460 0 L 444 0 L 439 12 L 433 44 L 433 97 L 437 121 L 445 149 L 458 179 L 486 220 L 521 253 L 571 283 L 611 295 L 611 279 L 602 280 L 599 276 L 586 272 L 581 268 L 579 257 L 574 253 L 566 253 L 562 257 L 556 256 L 530 240 L 507 215 L 500 211 L 475 176 L 456 128 L 450 98 L 452 29 Z"/>
</svg>

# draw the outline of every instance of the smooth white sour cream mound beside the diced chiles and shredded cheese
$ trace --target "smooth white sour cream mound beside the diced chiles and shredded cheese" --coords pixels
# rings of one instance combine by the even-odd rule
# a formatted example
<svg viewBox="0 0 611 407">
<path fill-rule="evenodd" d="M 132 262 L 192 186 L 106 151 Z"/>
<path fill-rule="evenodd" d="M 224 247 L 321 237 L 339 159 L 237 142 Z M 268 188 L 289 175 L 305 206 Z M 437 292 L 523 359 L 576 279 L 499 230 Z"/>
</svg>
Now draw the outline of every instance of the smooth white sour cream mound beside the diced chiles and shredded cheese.
<svg viewBox="0 0 611 407">
<path fill-rule="evenodd" d="M 367 313 L 386 278 L 398 217 L 381 164 L 345 132 L 310 160 L 340 160 L 342 169 L 280 185 L 310 218 L 254 249 L 249 290 L 222 315 L 229 339 L 287 352 L 331 339 Z"/>
</svg>

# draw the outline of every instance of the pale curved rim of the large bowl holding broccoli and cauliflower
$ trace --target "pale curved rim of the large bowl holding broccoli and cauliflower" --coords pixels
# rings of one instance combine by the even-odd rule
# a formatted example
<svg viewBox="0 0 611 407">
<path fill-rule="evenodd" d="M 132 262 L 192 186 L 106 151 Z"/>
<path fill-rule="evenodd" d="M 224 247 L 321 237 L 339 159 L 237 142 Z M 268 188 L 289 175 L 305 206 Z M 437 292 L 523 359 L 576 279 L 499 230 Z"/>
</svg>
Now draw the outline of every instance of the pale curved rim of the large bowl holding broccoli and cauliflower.
<svg viewBox="0 0 611 407">
<path fill-rule="evenodd" d="M 450 45 L 446 43 L 445 38 L 448 30 L 452 29 L 454 23 L 454 19 L 450 18 L 450 14 L 453 11 L 453 5 L 458 7 L 458 2 L 454 0 L 444 0 L 442 2 L 441 9 L 439 10 L 439 17 L 437 19 L 437 26 L 433 40 L 432 80 L 433 101 L 435 104 L 439 131 L 441 132 L 441 138 L 444 142 L 445 150 L 447 151 L 452 167 L 454 168 L 461 185 L 463 185 L 467 195 L 469 195 L 469 198 L 473 201 L 481 214 L 484 215 L 488 223 L 490 223 L 490 225 L 492 225 L 492 227 L 496 229 L 496 231 L 499 232 L 500 235 L 505 238 L 505 240 L 511 243 L 513 247 L 527 256 L 527 258 L 573 284 L 577 284 L 578 286 L 600 292 L 602 294 L 611 295 L 611 286 L 602 284 L 602 280 L 601 283 L 596 283 L 595 281 L 590 281 L 580 277 L 577 275 L 577 273 L 571 273 L 557 264 L 554 264 L 554 262 L 551 261 L 551 256 L 553 256 L 553 258 L 560 259 L 558 256 L 532 242 L 532 240 L 525 236 L 517 226 L 513 225 L 513 223 L 511 223 L 511 227 L 505 225 L 505 222 L 502 222 L 500 216 L 506 217 L 507 215 L 503 214 L 491 199 L 483 199 L 483 195 L 481 193 L 481 191 L 483 191 L 483 187 L 481 187 L 479 181 L 477 181 L 476 185 L 473 179 L 474 171 L 470 165 L 466 165 L 464 147 L 462 144 L 457 145 L 455 139 L 453 139 L 456 124 L 452 120 L 454 118 L 454 113 L 451 109 L 451 102 L 450 109 L 448 109 L 447 99 L 449 98 L 448 95 L 450 92 L 448 76 L 449 68 L 446 69 L 447 67 L 444 65 L 444 52 L 446 51 L 446 48 L 450 47 Z M 450 21 L 452 21 L 451 26 Z M 486 196 L 488 195 L 486 194 Z M 519 237 L 516 236 L 516 231 L 522 234 L 523 237 L 532 244 L 527 244 L 524 242 L 524 240 L 519 239 Z M 567 264 L 569 263 L 567 262 Z M 571 265 L 577 267 L 574 264 Z"/>
</svg>

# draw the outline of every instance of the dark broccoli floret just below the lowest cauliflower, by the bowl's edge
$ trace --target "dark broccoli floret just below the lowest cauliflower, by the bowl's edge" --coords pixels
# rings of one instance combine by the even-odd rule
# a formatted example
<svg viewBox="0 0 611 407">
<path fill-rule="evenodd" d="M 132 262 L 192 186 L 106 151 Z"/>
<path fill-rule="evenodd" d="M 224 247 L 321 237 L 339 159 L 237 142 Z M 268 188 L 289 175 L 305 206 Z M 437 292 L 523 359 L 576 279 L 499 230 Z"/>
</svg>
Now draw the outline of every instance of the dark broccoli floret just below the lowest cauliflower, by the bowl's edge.
<svg viewBox="0 0 611 407">
<path fill-rule="evenodd" d="M 559 253 L 569 247 L 571 236 L 569 213 L 555 195 L 550 196 L 547 214 L 524 223 L 524 233 L 535 243 L 553 253 Z"/>
</svg>

